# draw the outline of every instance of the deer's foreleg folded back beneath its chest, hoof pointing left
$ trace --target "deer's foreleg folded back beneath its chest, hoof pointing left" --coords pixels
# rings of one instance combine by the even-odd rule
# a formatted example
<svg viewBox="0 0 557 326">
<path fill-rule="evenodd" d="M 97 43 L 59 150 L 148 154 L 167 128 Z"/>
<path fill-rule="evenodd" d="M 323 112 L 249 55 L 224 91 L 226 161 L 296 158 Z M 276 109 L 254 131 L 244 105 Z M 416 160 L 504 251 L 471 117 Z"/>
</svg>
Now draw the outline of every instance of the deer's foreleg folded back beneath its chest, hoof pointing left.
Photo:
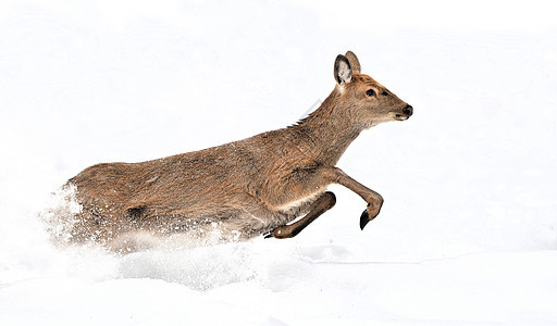
<svg viewBox="0 0 557 326">
<path fill-rule="evenodd" d="M 324 212 L 331 210 L 336 203 L 336 197 L 333 192 L 326 191 L 321 195 L 312 204 L 310 212 L 301 220 L 289 224 L 278 226 L 269 234 L 265 234 L 265 238 L 277 238 L 287 239 L 297 236 L 302 229 L 305 229 L 311 222 L 315 221 Z"/>
</svg>

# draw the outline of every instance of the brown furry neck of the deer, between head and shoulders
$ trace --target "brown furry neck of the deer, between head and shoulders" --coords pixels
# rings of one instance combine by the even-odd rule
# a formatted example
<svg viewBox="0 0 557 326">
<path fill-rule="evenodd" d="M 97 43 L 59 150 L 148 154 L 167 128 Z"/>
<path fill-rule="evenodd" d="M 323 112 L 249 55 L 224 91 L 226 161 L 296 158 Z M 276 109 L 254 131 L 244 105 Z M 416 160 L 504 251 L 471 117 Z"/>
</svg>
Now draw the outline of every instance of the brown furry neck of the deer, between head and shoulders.
<svg viewBox="0 0 557 326">
<path fill-rule="evenodd" d="M 309 151 L 320 165 L 335 165 L 362 127 L 350 121 L 334 90 L 298 127 L 309 140 Z"/>
</svg>

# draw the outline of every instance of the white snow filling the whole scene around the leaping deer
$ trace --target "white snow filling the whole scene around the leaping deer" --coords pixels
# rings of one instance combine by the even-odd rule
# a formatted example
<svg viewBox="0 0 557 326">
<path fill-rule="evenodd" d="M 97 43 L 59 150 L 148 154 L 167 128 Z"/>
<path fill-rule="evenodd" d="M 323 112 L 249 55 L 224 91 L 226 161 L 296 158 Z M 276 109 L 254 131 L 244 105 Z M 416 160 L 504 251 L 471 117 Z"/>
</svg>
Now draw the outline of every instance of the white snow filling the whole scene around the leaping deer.
<svg viewBox="0 0 557 326">
<path fill-rule="evenodd" d="M 557 323 L 544 2 L 117 3 L 0 4 L 0 325 Z M 338 164 L 385 198 L 364 231 L 366 204 L 332 187 L 290 240 L 49 243 L 37 214 L 84 167 L 289 125 L 348 49 L 414 108 Z"/>
</svg>

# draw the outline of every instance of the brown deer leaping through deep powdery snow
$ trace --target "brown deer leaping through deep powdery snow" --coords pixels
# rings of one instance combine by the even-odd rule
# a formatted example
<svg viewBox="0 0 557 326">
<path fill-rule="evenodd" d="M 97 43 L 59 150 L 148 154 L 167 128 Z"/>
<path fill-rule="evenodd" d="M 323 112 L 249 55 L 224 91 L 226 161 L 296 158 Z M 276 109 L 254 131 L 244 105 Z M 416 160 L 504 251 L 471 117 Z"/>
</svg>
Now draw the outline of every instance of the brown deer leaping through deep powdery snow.
<svg viewBox="0 0 557 326">
<path fill-rule="evenodd" d="M 383 198 L 335 164 L 362 130 L 408 120 L 412 106 L 361 74 L 350 51 L 336 58 L 334 77 L 321 106 L 293 126 L 196 152 L 84 170 L 65 185 L 81 204 L 72 240 L 110 247 L 127 235 L 197 236 L 215 228 L 242 240 L 290 238 L 334 206 L 331 184 L 366 201 L 363 229 Z"/>
</svg>

